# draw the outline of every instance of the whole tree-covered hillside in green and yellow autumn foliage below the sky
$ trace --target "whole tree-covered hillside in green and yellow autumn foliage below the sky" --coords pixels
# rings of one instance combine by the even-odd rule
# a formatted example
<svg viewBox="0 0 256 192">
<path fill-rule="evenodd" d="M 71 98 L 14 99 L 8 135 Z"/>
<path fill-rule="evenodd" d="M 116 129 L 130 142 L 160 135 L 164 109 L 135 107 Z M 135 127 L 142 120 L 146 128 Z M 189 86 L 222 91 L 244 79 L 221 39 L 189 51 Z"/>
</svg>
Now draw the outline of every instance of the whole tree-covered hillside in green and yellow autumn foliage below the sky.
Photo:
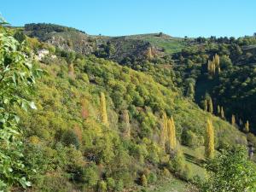
<svg viewBox="0 0 256 192">
<path fill-rule="evenodd" d="M 23 142 L 16 156 L 2 145 L 3 191 L 254 191 L 256 38 L 1 29 L 0 104 L 14 116 L 0 125 Z"/>
</svg>

